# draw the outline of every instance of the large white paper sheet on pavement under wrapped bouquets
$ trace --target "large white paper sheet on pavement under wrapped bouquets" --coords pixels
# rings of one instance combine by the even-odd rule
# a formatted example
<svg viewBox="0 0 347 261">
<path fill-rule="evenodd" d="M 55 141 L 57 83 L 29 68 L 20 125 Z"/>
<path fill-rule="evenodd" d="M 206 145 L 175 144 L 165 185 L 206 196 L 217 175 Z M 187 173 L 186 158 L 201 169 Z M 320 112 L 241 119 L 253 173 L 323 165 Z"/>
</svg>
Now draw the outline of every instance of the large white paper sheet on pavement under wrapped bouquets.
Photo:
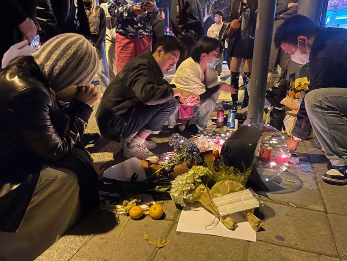
<svg viewBox="0 0 347 261">
<path fill-rule="evenodd" d="M 214 215 L 205 210 L 200 202 L 187 204 L 186 207 L 183 207 L 180 214 L 176 231 L 217 235 L 256 242 L 255 231 L 252 229 L 247 219 L 239 213 L 233 213 L 230 216 L 232 216 L 238 224 L 235 230 L 227 229 L 220 221 L 215 226 L 205 228 L 205 226 L 212 223 L 213 220 L 216 221 Z"/>
</svg>

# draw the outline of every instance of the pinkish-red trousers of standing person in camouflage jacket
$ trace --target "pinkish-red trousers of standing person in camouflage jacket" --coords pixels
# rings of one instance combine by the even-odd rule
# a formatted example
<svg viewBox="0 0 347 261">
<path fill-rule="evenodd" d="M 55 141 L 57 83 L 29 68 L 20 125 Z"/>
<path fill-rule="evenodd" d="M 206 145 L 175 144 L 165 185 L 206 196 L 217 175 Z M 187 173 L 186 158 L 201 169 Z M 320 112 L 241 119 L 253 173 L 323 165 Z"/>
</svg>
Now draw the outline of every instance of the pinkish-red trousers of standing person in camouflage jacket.
<svg viewBox="0 0 347 261">
<path fill-rule="evenodd" d="M 150 51 L 152 37 L 146 36 L 141 39 L 133 39 L 119 34 L 115 35 L 115 64 L 117 72 L 123 69 L 124 65 L 132 58 Z"/>
</svg>

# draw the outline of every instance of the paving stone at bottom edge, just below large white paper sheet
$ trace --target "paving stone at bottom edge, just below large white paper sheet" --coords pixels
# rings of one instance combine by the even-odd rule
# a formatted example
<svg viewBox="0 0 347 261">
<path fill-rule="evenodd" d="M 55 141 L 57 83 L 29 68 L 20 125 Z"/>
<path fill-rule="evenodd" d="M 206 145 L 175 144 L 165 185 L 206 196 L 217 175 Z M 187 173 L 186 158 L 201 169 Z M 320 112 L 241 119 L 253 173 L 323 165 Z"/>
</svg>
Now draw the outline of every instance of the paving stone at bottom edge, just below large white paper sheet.
<svg viewBox="0 0 347 261">
<path fill-rule="evenodd" d="M 236 240 L 204 234 L 176 232 L 177 224 L 167 235 L 171 242 L 158 249 L 153 260 L 203 261 L 203 260 L 244 260 L 246 244 Z"/>
</svg>

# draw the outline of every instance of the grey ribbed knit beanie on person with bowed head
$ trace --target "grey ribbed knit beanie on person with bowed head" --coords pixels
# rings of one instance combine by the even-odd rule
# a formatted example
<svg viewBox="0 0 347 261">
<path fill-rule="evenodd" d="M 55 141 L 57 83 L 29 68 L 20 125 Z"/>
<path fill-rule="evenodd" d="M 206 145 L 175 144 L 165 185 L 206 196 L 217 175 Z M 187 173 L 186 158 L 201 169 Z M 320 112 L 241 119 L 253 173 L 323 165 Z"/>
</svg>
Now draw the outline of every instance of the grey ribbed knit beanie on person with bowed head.
<svg viewBox="0 0 347 261">
<path fill-rule="evenodd" d="M 54 92 L 87 86 L 99 67 L 93 46 L 77 34 L 53 37 L 31 56 Z"/>
</svg>

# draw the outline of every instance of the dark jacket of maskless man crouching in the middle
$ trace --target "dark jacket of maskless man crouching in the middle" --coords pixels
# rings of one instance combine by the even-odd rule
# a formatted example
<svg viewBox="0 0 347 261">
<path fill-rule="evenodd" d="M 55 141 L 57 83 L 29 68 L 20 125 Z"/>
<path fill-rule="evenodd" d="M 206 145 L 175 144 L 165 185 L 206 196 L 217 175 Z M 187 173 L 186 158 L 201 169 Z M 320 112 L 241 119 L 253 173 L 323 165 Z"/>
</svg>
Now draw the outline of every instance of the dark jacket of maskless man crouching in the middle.
<svg viewBox="0 0 347 261">
<path fill-rule="evenodd" d="M 123 124 L 120 119 L 129 116 L 136 105 L 156 105 L 171 100 L 175 86 L 162 77 L 149 51 L 130 60 L 108 85 L 97 108 L 96 121 L 101 135 L 121 142 L 122 137 L 110 136 L 110 128 L 120 129 Z"/>
</svg>

